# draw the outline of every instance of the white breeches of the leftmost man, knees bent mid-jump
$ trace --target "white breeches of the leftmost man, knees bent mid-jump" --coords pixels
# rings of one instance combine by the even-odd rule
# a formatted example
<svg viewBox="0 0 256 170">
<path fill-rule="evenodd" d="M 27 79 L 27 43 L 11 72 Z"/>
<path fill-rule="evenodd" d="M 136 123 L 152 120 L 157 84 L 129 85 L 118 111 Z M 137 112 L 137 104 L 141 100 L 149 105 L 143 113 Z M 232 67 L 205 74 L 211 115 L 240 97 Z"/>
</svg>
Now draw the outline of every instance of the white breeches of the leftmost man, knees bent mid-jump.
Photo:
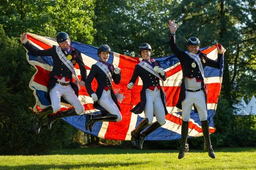
<svg viewBox="0 0 256 170">
<path fill-rule="evenodd" d="M 50 100 L 52 102 L 53 113 L 60 110 L 60 97 L 63 97 L 63 99 L 69 102 L 75 108 L 78 115 L 82 115 L 85 112 L 81 101 L 79 101 L 71 85 L 63 86 L 56 83 L 56 85 L 50 91 Z"/>
</svg>

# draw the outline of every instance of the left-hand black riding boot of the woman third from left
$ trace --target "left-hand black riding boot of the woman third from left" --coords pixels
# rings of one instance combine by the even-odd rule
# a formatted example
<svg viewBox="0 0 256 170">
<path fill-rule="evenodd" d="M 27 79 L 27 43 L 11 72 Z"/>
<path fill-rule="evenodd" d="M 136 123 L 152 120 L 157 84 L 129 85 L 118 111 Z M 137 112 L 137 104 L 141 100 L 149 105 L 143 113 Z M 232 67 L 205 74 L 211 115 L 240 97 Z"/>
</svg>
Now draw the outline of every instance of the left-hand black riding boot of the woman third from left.
<svg viewBox="0 0 256 170">
<path fill-rule="evenodd" d="M 131 144 L 133 144 L 133 146 L 137 146 L 140 132 L 148 125 L 149 119 L 145 118 L 139 123 L 139 125 L 133 131 L 131 131 Z"/>
</svg>

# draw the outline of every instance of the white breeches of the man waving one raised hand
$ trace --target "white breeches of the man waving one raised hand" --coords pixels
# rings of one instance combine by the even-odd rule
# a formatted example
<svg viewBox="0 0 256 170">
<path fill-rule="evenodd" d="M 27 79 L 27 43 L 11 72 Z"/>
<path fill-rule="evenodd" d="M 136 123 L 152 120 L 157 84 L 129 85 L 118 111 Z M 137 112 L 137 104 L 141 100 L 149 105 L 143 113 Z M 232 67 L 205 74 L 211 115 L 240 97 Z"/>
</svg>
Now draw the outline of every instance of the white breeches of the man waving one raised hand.
<svg viewBox="0 0 256 170">
<path fill-rule="evenodd" d="M 198 92 L 185 91 L 185 94 L 186 94 L 186 98 L 181 102 L 182 120 L 186 122 L 189 121 L 193 104 L 195 104 L 196 109 L 198 110 L 200 121 L 206 121 L 207 108 L 206 108 L 206 96 L 204 94 L 204 91 L 203 90 Z"/>
</svg>

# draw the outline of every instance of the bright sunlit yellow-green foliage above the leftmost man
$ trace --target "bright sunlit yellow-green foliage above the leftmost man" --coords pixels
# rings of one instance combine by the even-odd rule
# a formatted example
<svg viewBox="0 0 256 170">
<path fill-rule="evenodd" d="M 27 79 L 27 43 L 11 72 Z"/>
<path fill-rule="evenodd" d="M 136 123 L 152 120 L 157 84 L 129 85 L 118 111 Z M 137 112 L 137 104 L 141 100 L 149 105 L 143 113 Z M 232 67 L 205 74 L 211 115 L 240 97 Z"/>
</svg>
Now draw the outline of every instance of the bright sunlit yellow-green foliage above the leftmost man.
<svg viewBox="0 0 256 170">
<path fill-rule="evenodd" d="M 92 18 L 94 0 L 3 0 L 0 24 L 8 36 L 22 32 L 54 38 L 57 32 L 67 32 L 73 41 L 93 41 Z"/>
</svg>

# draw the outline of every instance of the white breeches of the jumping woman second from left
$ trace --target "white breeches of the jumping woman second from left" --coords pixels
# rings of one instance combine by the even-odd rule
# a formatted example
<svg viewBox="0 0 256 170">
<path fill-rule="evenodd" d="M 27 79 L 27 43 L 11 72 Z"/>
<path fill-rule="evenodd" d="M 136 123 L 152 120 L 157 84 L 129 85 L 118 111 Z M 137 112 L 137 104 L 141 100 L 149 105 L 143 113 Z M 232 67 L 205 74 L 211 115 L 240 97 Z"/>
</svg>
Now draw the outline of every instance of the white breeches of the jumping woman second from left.
<svg viewBox="0 0 256 170">
<path fill-rule="evenodd" d="M 99 103 L 99 105 L 101 105 L 101 107 L 106 109 L 106 111 L 108 111 L 110 114 L 117 115 L 117 120 L 116 120 L 117 122 L 120 122 L 122 120 L 122 115 L 117 105 L 115 104 L 115 102 L 111 97 L 110 90 L 108 91 L 103 90 L 101 98 L 97 102 Z"/>
</svg>

